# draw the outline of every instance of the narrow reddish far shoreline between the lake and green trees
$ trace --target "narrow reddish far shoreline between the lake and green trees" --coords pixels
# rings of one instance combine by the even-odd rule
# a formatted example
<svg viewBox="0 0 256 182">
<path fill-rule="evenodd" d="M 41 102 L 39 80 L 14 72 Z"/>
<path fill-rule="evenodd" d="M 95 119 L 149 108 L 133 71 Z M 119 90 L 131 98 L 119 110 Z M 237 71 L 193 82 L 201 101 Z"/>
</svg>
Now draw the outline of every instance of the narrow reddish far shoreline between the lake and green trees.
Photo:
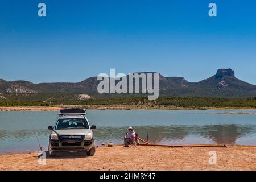
<svg viewBox="0 0 256 182">
<path fill-rule="evenodd" d="M 0 106 L 0 111 L 59 111 L 60 109 L 80 107 L 89 110 L 256 110 L 256 108 L 241 107 L 174 107 L 174 106 L 136 106 L 136 105 L 59 105 L 51 106 Z"/>
</svg>

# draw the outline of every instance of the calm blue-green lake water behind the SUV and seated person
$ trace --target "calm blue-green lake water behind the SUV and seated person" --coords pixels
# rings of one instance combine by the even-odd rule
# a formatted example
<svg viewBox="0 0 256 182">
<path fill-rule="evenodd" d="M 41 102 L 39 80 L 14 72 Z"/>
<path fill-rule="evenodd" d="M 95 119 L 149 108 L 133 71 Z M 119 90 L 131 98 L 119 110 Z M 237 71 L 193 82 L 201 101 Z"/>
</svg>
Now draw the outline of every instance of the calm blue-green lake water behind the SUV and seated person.
<svg viewBox="0 0 256 182">
<path fill-rule="evenodd" d="M 225 112 L 233 114 L 224 114 Z M 238 113 L 247 114 L 238 114 Z M 47 150 L 56 111 L 0 111 L 0 154 Z M 256 145 L 256 111 L 88 110 L 97 145 L 123 143 L 128 126 L 150 143 Z"/>
</svg>

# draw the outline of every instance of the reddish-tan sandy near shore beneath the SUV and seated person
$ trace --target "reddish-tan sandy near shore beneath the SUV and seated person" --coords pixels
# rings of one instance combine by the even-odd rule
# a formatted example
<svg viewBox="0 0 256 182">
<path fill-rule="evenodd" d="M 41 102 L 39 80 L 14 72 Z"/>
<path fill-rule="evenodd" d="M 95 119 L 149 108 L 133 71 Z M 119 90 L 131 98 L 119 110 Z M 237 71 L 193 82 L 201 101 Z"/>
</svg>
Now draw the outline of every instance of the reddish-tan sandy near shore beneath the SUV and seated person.
<svg viewBox="0 0 256 182">
<path fill-rule="evenodd" d="M 217 164 L 209 164 L 216 151 Z M 93 157 L 59 154 L 38 164 L 36 152 L 0 155 L 0 170 L 256 170 L 256 147 L 98 147 Z"/>
</svg>

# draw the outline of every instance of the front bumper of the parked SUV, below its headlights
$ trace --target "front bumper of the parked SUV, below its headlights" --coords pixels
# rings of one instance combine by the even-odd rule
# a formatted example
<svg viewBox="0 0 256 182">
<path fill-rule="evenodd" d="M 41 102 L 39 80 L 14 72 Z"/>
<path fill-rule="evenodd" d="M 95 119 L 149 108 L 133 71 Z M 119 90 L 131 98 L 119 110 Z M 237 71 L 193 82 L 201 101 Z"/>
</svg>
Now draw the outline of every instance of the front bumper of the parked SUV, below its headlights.
<svg viewBox="0 0 256 182">
<path fill-rule="evenodd" d="M 49 144 L 53 151 L 89 151 L 94 145 L 94 139 L 90 140 L 51 140 Z"/>
</svg>

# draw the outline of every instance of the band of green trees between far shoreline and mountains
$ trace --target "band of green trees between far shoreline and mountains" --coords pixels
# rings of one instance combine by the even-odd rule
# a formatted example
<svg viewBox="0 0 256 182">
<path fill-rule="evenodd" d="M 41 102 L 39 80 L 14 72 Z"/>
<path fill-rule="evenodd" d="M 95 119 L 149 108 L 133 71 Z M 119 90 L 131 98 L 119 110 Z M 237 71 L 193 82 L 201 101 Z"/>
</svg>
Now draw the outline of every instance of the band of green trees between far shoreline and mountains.
<svg viewBox="0 0 256 182">
<path fill-rule="evenodd" d="M 215 98 L 160 96 L 157 100 L 148 100 L 147 96 L 98 97 L 79 100 L 75 94 L 9 94 L 0 100 L 1 106 L 53 106 L 53 105 L 137 105 L 148 107 L 247 107 L 256 108 L 256 97 Z"/>
</svg>

